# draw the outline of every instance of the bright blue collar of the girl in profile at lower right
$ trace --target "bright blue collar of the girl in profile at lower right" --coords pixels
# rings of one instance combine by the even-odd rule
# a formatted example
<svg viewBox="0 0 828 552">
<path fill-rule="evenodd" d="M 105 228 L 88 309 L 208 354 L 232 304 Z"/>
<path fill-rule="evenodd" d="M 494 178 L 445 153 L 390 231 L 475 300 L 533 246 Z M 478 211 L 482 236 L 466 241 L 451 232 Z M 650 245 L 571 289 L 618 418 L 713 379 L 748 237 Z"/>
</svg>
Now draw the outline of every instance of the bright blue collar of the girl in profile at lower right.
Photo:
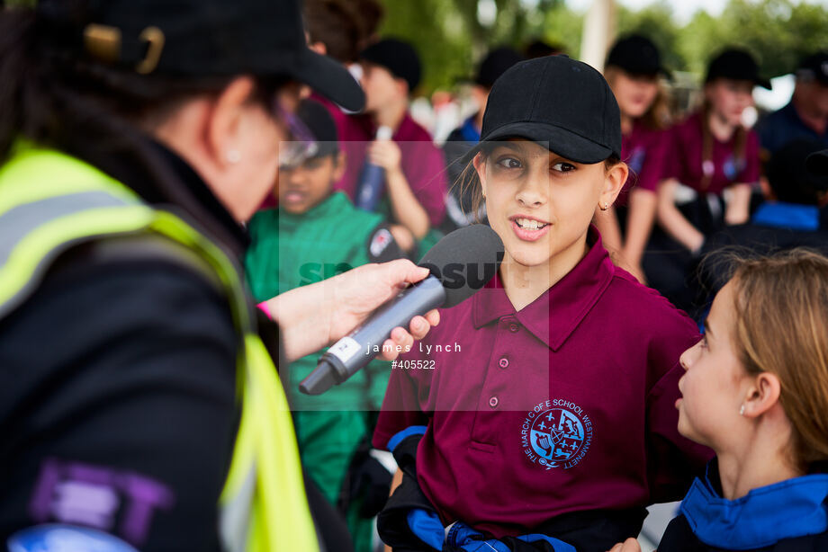
<svg viewBox="0 0 828 552">
<path fill-rule="evenodd" d="M 722 498 L 718 485 L 714 459 L 707 465 L 704 481 L 698 477 L 693 481 L 680 506 L 690 529 L 708 546 L 728 550 L 764 548 L 782 539 L 828 529 L 826 474 L 787 479 L 753 489 L 736 500 Z"/>
</svg>

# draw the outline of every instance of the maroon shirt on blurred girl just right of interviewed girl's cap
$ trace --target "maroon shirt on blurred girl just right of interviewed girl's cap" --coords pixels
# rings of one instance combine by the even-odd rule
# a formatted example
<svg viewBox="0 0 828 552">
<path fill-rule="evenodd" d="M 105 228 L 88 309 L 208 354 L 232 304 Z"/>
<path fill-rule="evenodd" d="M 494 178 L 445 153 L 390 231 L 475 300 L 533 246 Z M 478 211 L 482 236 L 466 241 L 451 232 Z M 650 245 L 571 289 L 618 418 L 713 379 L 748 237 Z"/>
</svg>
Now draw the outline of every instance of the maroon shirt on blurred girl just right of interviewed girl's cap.
<svg viewBox="0 0 828 552">
<path fill-rule="evenodd" d="M 630 191 L 658 190 L 664 178 L 664 164 L 670 152 L 667 132 L 647 127 L 641 120 L 635 120 L 633 129 L 622 137 L 621 160 L 630 167 L 630 175 L 624 188 L 618 194 L 616 203 L 627 205 Z"/>
</svg>

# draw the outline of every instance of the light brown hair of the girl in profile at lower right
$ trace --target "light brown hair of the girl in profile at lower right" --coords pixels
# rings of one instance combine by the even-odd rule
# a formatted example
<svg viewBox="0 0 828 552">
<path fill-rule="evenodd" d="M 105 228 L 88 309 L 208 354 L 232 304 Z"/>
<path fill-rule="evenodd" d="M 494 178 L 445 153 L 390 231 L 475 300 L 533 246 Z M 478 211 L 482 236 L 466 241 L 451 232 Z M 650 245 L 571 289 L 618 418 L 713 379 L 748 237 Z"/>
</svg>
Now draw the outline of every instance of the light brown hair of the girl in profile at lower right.
<svg viewBox="0 0 828 552">
<path fill-rule="evenodd" d="M 752 375 L 779 378 L 799 467 L 828 460 L 828 258 L 795 249 L 741 260 L 734 342 Z"/>
</svg>

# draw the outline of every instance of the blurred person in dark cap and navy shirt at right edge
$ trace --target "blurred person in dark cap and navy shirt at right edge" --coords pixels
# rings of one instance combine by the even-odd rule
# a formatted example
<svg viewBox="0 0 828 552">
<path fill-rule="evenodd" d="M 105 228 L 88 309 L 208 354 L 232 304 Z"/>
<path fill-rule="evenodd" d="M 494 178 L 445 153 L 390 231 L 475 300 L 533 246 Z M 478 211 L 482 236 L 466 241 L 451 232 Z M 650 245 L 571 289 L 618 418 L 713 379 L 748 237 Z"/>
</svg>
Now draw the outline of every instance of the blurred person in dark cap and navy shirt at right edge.
<svg viewBox="0 0 828 552">
<path fill-rule="evenodd" d="M 770 154 L 794 138 L 811 138 L 828 147 L 828 51 L 803 58 L 788 105 L 760 121 L 761 147 Z"/>
</svg>

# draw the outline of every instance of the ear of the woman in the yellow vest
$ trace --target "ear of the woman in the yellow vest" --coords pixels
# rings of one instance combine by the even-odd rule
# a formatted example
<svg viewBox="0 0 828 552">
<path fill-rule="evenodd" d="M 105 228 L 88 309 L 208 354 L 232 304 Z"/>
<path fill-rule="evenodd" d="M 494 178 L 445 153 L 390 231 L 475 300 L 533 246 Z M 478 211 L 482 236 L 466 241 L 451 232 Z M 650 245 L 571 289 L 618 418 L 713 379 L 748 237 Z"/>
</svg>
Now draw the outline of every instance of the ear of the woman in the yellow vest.
<svg viewBox="0 0 828 552">
<path fill-rule="evenodd" d="M 241 147 L 240 132 L 247 101 L 256 88 L 249 76 L 239 76 L 219 94 L 213 102 L 206 126 L 206 142 L 210 156 L 216 165 L 225 167 L 238 162 L 229 152 Z"/>
</svg>

